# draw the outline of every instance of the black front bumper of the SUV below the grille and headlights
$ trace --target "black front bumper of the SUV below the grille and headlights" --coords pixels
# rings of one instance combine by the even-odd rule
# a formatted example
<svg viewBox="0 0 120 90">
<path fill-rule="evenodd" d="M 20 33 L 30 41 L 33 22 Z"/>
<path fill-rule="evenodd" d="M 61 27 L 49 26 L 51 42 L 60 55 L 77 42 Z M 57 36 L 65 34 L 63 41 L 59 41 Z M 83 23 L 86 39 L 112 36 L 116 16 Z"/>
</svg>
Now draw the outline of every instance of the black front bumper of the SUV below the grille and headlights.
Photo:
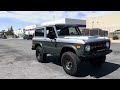
<svg viewBox="0 0 120 90">
<path fill-rule="evenodd" d="M 93 54 L 90 54 L 90 55 L 84 55 L 84 56 L 81 56 L 81 58 L 94 58 L 94 57 L 100 57 L 100 56 L 105 56 L 109 53 L 111 53 L 112 50 L 106 50 L 106 51 L 102 51 L 102 52 L 97 52 L 97 53 L 93 53 Z"/>
</svg>

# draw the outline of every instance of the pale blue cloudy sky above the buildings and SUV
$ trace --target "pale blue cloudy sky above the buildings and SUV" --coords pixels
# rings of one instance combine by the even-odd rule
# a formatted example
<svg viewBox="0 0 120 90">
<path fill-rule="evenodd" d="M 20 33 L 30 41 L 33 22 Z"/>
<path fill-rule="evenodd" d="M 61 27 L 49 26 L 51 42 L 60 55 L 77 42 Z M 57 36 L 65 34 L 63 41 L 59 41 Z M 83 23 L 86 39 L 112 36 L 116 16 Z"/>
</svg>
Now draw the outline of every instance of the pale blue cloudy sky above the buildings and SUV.
<svg viewBox="0 0 120 90">
<path fill-rule="evenodd" d="M 41 24 L 61 18 L 83 19 L 120 13 L 120 11 L 0 11 L 0 31 L 23 29 L 25 26 Z"/>
</svg>

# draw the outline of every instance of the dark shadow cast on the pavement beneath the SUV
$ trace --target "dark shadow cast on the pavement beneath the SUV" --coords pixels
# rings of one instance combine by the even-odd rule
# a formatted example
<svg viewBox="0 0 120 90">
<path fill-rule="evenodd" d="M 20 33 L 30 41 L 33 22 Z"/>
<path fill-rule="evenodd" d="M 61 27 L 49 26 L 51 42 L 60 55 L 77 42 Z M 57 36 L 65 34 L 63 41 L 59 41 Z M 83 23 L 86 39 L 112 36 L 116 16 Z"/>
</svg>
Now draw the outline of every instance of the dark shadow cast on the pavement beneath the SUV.
<svg viewBox="0 0 120 90">
<path fill-rule="evenodd" d="M 58 57 L 49 56 L 47 58 L 47 63 L 54 63 L 56 65 L 61 66 Z M 80 66 L 80 72 L 78 73 L 77 77 L 86 77 L 91 76 L 94 78 L 101 78 L 106 76 L 114 71 L 116 71 L 120 67 L 119 64 L 105 62 L 100 68 L 93 67 L 90 63 L 83 63 Z"/>
</svg>

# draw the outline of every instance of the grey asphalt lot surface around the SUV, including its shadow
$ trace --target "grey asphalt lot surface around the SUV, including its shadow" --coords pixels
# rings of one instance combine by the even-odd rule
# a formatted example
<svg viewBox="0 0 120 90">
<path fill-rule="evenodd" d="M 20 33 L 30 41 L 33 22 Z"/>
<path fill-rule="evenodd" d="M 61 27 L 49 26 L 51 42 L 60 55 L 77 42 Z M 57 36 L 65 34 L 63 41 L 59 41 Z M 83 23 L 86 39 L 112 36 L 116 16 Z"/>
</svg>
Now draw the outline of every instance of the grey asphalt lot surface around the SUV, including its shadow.
<svg viewBox="0 0 120 90">
<path fill-rule="evenodd" d="M 0 39 L 0 79 L 120 79 L 120 43 L 111 44 L 113 52 L 101 68 L 82 64 L 78 77 L 66 74 L 55 57 L 39 63 L 31 45 L 31 40 Z"/>
</svg>

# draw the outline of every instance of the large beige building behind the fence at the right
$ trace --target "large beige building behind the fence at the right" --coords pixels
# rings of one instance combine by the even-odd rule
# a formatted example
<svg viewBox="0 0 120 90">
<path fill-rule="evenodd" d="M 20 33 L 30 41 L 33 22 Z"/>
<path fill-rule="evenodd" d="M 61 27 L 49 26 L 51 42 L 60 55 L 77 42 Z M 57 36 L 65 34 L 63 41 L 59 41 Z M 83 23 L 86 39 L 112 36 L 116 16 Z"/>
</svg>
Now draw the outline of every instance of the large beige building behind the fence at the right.
<svg viewBox="0 0 120 90">
<path fill-rule="evenodd" d="M 86 28 L 100 28 L 113 32 L 120 29 L 120 13 L 88 18 Z"/>
</svg>

